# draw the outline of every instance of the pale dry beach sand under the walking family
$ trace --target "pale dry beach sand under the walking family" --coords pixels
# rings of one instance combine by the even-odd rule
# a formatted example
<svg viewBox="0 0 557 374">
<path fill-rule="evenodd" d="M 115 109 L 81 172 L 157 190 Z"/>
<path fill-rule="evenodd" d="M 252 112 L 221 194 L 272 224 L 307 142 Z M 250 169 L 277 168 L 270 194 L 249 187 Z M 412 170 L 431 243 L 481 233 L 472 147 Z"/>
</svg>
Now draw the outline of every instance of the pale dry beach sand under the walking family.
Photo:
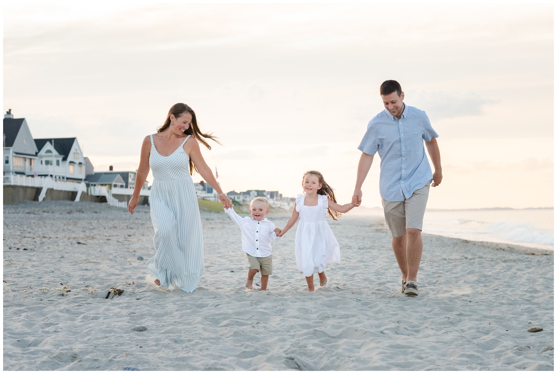
<svg viewBox="0 0 557 374">
<path fill-rule="evenodd" d="M 4 370 L 553 370 L 552 252 L 424 235 L 407 297 L 383 223 L 345 217 L 327 288 L 305 292 L 294 228 L 273 242 L 268 291 L 246 292 L 240 229 L 202 221 L 206 271 L 187 294 L 137 260 L 154 254 L 148 207 L 4 206 Z"/>
</svg>

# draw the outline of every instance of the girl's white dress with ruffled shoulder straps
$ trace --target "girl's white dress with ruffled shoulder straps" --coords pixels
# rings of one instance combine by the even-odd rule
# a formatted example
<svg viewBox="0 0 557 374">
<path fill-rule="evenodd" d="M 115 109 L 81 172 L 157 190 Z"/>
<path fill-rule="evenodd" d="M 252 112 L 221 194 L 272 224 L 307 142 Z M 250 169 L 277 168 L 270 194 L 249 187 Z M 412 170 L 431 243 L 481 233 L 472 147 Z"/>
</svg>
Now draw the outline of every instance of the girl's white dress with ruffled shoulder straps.
<svg viewBox="0 0 557 374">
<path fill-rule="evenodd" d="M 296 266 L 311 276 L 321 273 L 328 263 L 340 264 L 340 247 L 328 222 L 325 220 L 329 203 L 326 195 L 317 195 L 316 206 L 305 206 L 305 195 L 296 197 L 296 211 L 300 213 L 300 222 L 296 229 L 294 250 Z"/>
</svg>

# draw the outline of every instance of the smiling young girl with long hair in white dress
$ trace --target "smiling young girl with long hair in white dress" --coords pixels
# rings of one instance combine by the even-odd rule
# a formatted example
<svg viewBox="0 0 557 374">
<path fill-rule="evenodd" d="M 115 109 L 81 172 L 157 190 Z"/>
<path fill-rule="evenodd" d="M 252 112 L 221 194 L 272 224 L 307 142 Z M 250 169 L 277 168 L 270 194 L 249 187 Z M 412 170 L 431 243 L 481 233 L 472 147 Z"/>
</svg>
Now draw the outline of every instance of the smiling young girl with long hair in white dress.
<svg viewBox="0 0 557 374">
<path fill-rule="evenodd" d="M 296 230 L 295 252 L 296 266 L 306 277 L 307 290 L 313 292 L 313 274 L 317 270 L 319 285 L 327 284 L 325 265 L 331 262 L 340 264 L 340 247 L 333 231 L 325 220 L 328 214 L 338 221 L 340 213 L 346 213 L 356 205 L 351 202 L 345 205 L 336 203 L 333 188 L 325 182 L 320 172 L 309 171 L 302 178 L 305 195 L 298 195 L 292 210 L 292 217 L 285 228 L 275 229 L 277 236 L 286 234 L 300 217 Z"/>
</svg>

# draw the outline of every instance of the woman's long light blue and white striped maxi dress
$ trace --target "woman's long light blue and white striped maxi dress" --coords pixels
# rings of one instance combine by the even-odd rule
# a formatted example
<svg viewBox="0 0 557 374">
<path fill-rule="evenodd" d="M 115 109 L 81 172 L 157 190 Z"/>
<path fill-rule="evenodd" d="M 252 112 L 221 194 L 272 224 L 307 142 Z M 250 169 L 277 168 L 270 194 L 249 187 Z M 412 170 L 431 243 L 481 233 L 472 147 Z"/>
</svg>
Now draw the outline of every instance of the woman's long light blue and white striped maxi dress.
<svg viewBox="0 0 557 374">
<path fill-rule="evenodd" d="M 160 156 L 151 135 L 149 166 L 153 171 L 151 220 L 157 252 L 147 270 L 168 290 L 193 292 L 203 271 L 203 237 L 196 190 L 189 174 L 184 143 L 170 156 Z"/>
</svg>

